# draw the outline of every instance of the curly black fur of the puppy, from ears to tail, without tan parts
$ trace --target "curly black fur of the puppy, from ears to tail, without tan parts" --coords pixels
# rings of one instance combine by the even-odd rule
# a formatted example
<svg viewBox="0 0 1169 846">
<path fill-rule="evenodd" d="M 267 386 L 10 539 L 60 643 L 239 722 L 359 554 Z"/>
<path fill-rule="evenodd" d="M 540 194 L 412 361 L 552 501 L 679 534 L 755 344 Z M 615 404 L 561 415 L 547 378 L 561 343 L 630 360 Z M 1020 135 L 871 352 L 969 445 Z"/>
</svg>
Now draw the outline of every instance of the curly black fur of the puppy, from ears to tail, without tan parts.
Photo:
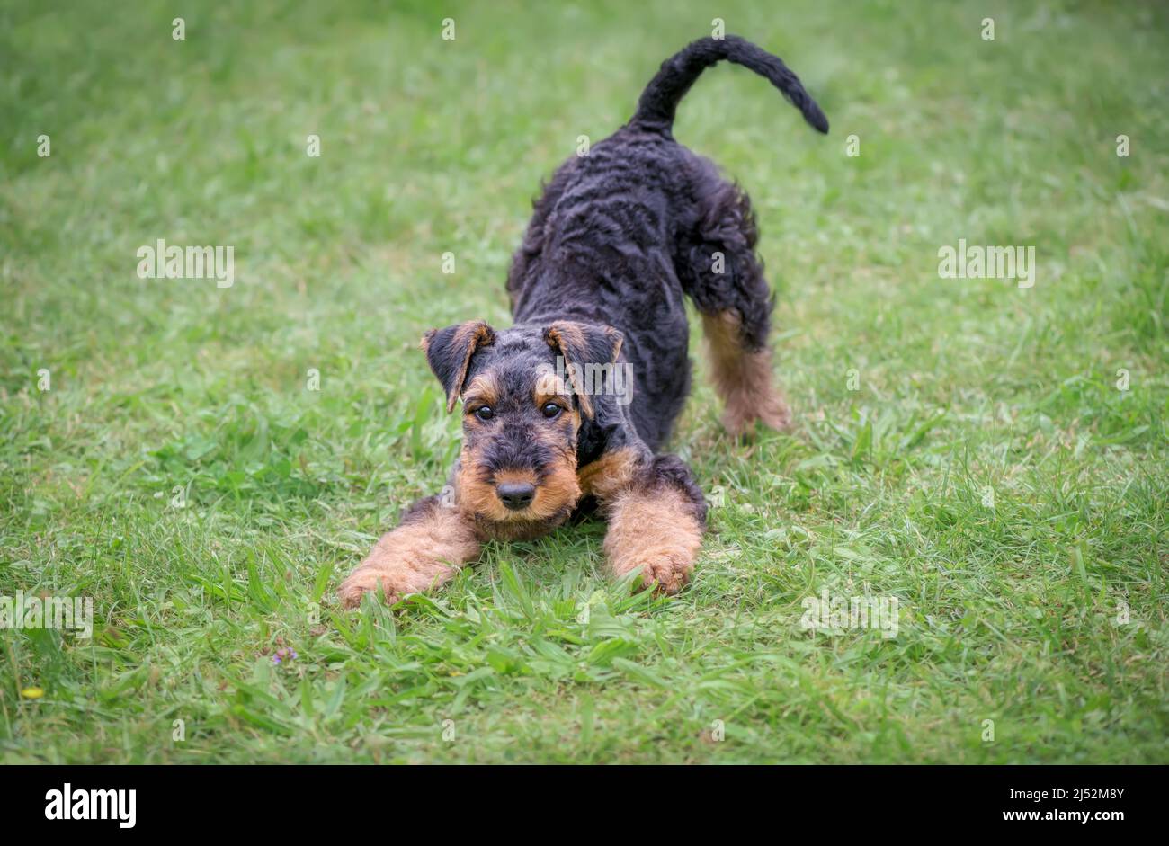
<svg viewBox="0 0 1169 846">
<path fill-rule="evenodd" d="M 448 391 L 490 373 L 504 388 L 500 403 L 510 403 L 516 419 L 527 415 L 526 430 L 513 427 L 514 442 L 484 448 L 487 471 L 525 464 L 540 470 L 535 452 L 547 448 L 531 445 L 539 421 L 524 405 L 539 368 L 558 355 L 604 363 L 616 354 L 618 365 L 632 366 L 632 403 L 590 397 L 590 414 L 565 448 L 575 450 L 580 467 L 613 450 L 637 451 L 646 479 L 683 490 L 705 521 L 689 469 L 673 457 L 653 458 L 690 389 L 683 299 L 691 297 L 703 314 L 733 315 L 743 353 L 766 347 L 774 304 L 754 251 L 758 230 L 747 195 L 672 136 L 678 100 L 721 60 L 767 77 L 809 124 L 828 131 L 795 74 L 742 39 L 701 39 L 663 63 L 632 119 L 588 155 L 561 165 L 535 201 L 507 277 L 514 326 L 463 324 L 428 335 L 431 367 Z M 553 324 L 566 321 L 580 330 L 581 348 L 561 348 L 563 339 L 549 334 Z M 480 443 L 484 437 L 469 430 L 472 436 Z"/>
</svg>

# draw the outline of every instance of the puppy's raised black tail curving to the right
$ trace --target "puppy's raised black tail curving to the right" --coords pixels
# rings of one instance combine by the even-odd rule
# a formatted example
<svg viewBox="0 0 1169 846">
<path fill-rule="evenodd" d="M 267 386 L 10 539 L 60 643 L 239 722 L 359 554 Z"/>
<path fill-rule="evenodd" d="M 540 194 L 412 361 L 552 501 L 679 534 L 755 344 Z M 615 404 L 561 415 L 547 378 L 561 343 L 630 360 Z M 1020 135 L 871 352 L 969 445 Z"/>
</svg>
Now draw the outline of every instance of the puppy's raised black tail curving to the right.
<svg viewBox="0 0 1169 846">
<path fill-rule="evenodd" d="M 735 35 L 692 41 L 672 58 L 663 62 L 662 70 L 642 92 L 632 123 L 669 132 L 673 125 L 673 112 L 678 108 L 678 102 L 694 84 L 694 79 L 722 60 L 741 64 L 767 77 L 780 89 L 784 98 L 800 110 L 804 120 L 821 132 L 828 133 L 828 118 L 816 105 L 816 100 L 804 91 L 800 77 L 776 56 Z"/>
</svg>

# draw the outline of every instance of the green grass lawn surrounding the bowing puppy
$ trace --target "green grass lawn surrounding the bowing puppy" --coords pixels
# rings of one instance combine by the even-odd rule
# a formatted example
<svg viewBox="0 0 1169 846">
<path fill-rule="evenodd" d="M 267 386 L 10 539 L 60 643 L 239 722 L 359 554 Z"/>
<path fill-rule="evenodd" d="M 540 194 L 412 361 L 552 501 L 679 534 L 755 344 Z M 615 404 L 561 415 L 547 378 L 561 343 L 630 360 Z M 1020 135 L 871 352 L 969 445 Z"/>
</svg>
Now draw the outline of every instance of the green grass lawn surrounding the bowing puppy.
<svg viewBox="0 0 1169 846">
<path fill-rule="evenodd" d="M 0 761 L 1169 762 L 1162 6 L 182 6 L 0 11 L 0 596 L 96 608 L 0 631 Z M 794 432 L 733 443 L 697 363 L 676 598 L 586 523 L 343 612 L 458 449 L 420 334 L 507 325 L 540 179 L 714 16 L 832 122 L 720 67 L 677 125 L 754 199 Z M 234 287 L 139 279 L 157 238 Z M 1035 287 L 940 279 L 959 238 Z M 803 631 L 824 588 L 898 636 Z"/>
</svg>

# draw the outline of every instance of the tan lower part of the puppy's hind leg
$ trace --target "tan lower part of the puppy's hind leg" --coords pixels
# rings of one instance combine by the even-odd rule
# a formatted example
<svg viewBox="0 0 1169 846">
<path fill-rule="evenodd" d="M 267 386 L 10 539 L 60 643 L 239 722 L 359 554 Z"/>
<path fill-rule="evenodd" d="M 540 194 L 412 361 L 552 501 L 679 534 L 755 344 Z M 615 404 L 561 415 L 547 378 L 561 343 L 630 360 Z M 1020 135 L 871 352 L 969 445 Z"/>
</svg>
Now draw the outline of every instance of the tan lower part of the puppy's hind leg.
<svg viewBox="0 0 1169 846">
<path fill-rule="evenodd" d="M 741 435 L 756 419 L 772 429 L 789 429 L 791 409 L 774 387 L 770 349 L 743 351 L 739 318 L 732 312 L 703 314 L 703 331 L 714 389 L 726 404 L 722 424 L 727 431 Z"/>
</svg>

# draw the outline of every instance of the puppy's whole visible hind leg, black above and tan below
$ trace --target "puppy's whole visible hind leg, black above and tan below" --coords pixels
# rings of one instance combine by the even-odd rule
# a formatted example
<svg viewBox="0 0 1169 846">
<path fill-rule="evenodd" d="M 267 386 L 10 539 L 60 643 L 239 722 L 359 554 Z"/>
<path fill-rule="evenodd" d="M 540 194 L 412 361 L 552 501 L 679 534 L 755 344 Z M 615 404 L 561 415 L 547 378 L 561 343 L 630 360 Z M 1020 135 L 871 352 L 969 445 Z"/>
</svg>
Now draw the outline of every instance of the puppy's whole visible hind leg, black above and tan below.
<svg viewBox="0 0 1169 846">
<path fill-rule="evenodd" d="M 703 315 L 714 389 L 726 407 L 722 423 L 732 435 L 756 419 L 786 430 L 791 410 L 772 375 L 767 334 L 775 300 L 755 255 L 755 215 L 736 186 L 711 172 L 699 183 L 710 187 L 698 201 L 697 226 L 679 242 L 676 269 Z"/>
</svg>

